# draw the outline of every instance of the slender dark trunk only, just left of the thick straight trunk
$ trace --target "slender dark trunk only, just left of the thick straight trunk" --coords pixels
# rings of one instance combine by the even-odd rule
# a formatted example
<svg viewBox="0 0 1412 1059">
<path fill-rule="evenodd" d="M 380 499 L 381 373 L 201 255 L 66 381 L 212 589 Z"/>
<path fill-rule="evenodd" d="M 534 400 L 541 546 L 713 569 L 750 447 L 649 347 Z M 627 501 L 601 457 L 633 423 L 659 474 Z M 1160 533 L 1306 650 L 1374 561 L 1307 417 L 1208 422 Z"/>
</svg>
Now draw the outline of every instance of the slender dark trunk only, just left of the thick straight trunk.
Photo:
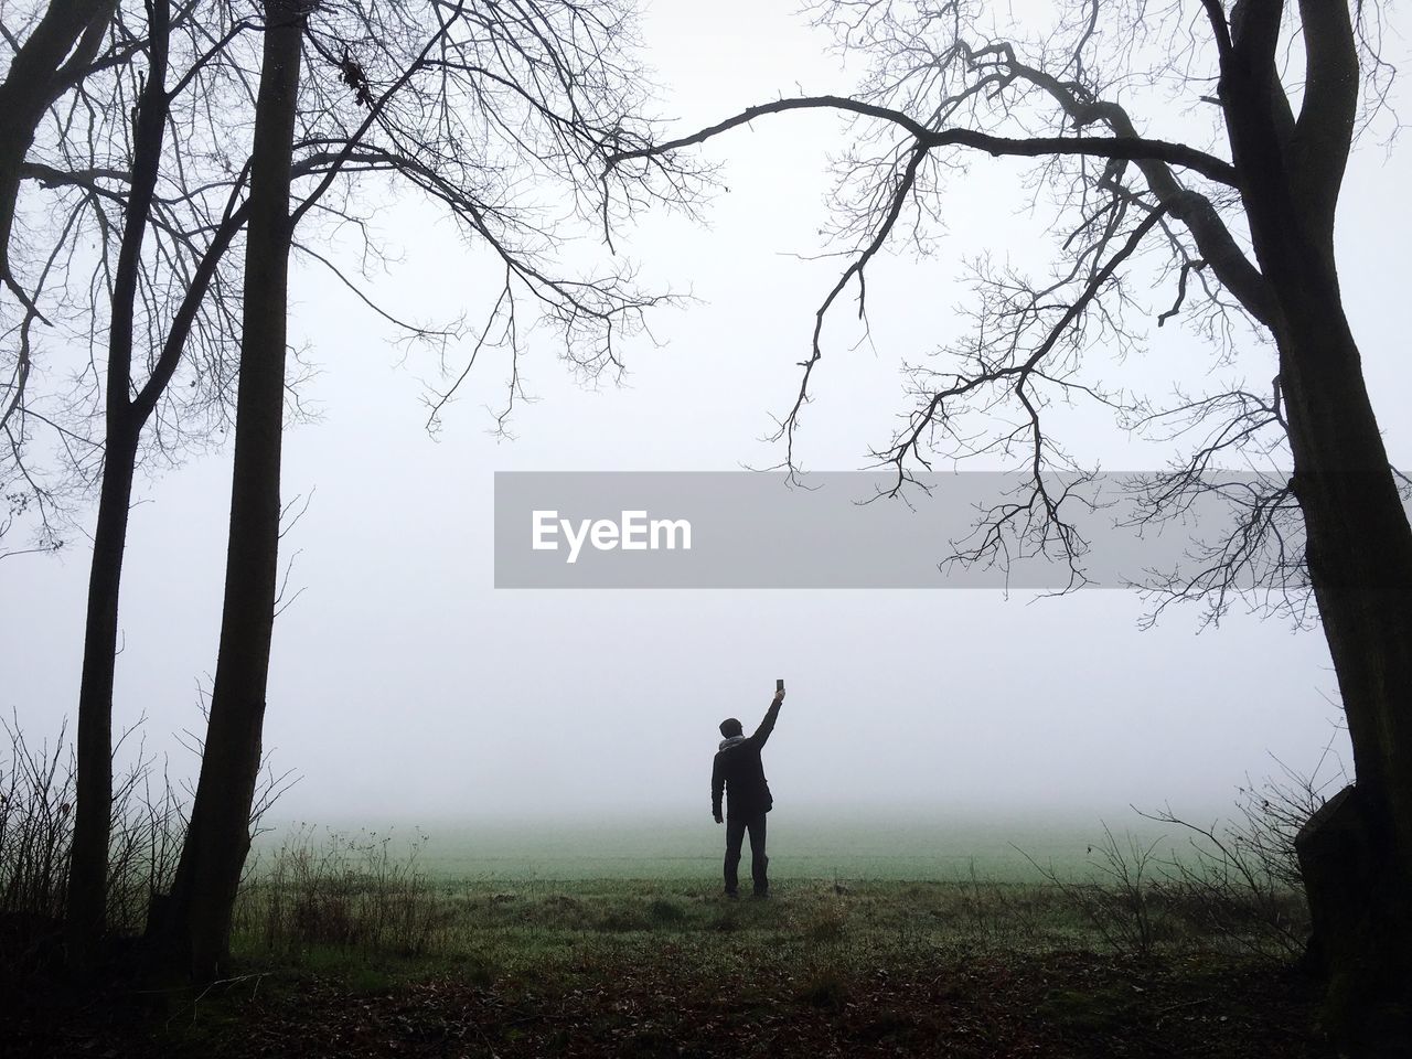
<svg viewBox="0 0 1412 1059">
<path fill-rule="evenodd" d="M 82 963 L 102 936 L 107 911 L 107 844 L 113 808 L 113 676 L 117 665 L 117 607 L 133 497 L 137 441 L 145 417 L 133 408 L 133 316 L 141 273 L 143 239 L 161 168 L 167 128 L 167 54 L 171 8 L 152 0 L 148 69 L 137 107 L 131 185 L 123 215 L 123 237 L 113 271 L 109 325 L 103 489 L 93 537 L 89 600 L 79 685 L 76 810 L 69 860 L 68 939 Z"/>
</svg>

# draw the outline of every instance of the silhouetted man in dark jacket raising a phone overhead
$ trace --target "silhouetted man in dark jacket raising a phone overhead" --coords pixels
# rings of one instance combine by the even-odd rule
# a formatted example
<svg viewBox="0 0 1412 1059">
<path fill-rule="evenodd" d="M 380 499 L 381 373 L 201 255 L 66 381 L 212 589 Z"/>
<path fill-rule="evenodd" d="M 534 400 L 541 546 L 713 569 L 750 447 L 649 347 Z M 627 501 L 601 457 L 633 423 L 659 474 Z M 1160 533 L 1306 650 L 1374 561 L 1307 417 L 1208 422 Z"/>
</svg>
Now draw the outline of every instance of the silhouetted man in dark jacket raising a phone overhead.
<svg viewBox="0 0 1412 1059">
<path fill-rule="evenodd" d="M 750 832 L 750 875 L 755 884 L 755 897 L 770 895 L 770 878 L 765 868 L 765 813 L 774 806 L 770 784 L 765 782 L 765 767 L 760 751 L 775 730 L 779 717 L 779 703 L 785 692 L 775 692 L 774 702 L 760 722 L 755 734 L 748 738 L 740 722 L 727 717 L 720 723 L 720 750 L 710 771 L 710 810 L 720 823 L 720 795 L 726 792 L 726 897 L 736 897 L 740 885 L 736 870 L 740 867 L 740 846 Z"/>
</svg>

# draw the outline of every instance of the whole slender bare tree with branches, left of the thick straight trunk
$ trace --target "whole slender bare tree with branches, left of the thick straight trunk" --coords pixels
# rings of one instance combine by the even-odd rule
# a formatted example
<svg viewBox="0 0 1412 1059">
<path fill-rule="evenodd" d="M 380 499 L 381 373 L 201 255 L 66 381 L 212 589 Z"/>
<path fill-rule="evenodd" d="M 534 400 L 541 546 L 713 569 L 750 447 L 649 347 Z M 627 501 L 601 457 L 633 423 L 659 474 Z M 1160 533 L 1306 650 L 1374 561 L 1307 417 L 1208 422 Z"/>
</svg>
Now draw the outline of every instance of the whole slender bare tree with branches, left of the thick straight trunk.
<svg viewBox="0 0 1412 1059">
<path fill-rule="evenodd" d="M 225 404 L 233 373 L 233 329 L 223 260 L 249 212 L 240 201 L 244 169 L 226 172 L 230 167 L 222 161 L 215 172 L 206 172 L 196 157 L 229 157 L 229 148 L 216 150 L 225 147 L 223 128 L 208 116 L 232 95 L 239 113 L 241 79 L 219 66 L 253 24 L 233 17 L 222 24 L 222 16 L 229 14 L 223 4 L 186 3 L 174 13 L 168 0 L 150 0 L 144 8 L 141 20 L 121 8 L 113 20 L 113 48 L 141 41 L 144 61 L 76 89 L 72 109 L 97 117 L 79 123 L 83 134 L 71 133 L 54 144 L 51 162 L 25 164 L 25 175 L 61 189 L 76 210 L 90 216 L 99 247 L 95 270 L 102 275 L 89 287 L 86 312 L 90 343 L 103 336 L 102 369 L 95 359 L 85 374 L 90 384 L 72 395 L 68 407 L 71 435 L 79 436 L 86 419 L 100 424 L 100 439 L 92 445 L 100 457 L 92 472 L 99 503 L 79 686 L 78 809 L 66 909 L 76 959 L 104 931 L 119 594 L 134 474 L 144 448 L 175 459 L 189 439 L 209 432 L 209 422 L 192 432 L 188 412 Z M 134 103 L 131 121 L 124 104 L 128 96 Z M 172 400 L 171 383 L 192 350 L 198 356 L 188 357 L 195 360 L 189 385 L 178 388 Z M 86 414 L 89 404 L 97 404 L 100 412 Z M 20 415 L 30 414 L 23 402 Z M 148 431 L 144 446 L 144 431 L 154 421 L 157 429 Z"/>
</svg>

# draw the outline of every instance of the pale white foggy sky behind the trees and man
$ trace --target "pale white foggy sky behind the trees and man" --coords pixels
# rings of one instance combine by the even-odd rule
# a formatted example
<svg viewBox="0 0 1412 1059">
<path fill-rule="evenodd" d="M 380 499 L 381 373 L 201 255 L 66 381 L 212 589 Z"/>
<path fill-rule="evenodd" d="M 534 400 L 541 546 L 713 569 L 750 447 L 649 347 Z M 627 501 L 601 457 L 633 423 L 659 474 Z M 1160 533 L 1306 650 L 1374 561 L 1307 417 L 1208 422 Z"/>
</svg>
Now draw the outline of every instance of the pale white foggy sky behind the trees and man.
<svg viewBox="0 0 1412 1059">
<path fill-rule="evenodd" d="M 796 90 L 842 90 L 823 38 L 792 3 L 658 0 L 650 61 L 682 127 Z M 1395 41 L 1402 47 L 1401 41 Z M 1394 61 L 1398 56 L 1391 56 Z M 306 397 L 322 421 L 287 439 L 285 496 L 313 491 L 287 538 L 299 599 L 275 626 L 267 747 L 304 779 L 281 816 L 316 820 L 600 813 L 631 819 L 707 809 L 716 723 L 760 714 L 774 679 L 789 698 L 767 765 L 777 801 L 1113 813 L 1130 802 L 1207 810 L 1228 803 L 1268 754 L 1312 767 L 1333 733 L 1334 679 L 1322 637 L 1231 616 L 1195 635 L 1196 611 L 1155 631 L 1131 593 L 1058 600 L 990 592 L 556 592 L 491 587 L 496 470 L 702 470 L 768 465 L 760 442 L 788 407 L 795 361 L 836 263 L 818 250 L 825 162 L 839 123 L 774 119 L 712 148 L 731 191 L 709 229 L 654 216 L 623 247 L 645 275 L 702 304 L 652 319 L 665 343 L 628 349 L 623 388 L 583 390 L 552 353 L 525 363 L 517 441 L 489 435 L 504 364 L 477 367 L 422 429 L 431 367 L 402 363 L 380 326 L 325 277 L 301 271 L 294 333 L 322 369 Z M 1012 191 L 1021 167 L 977 161 L 955 185 L 950 237 L 929 260 L 880 261 L 874 342 L 837 337 L 816 374 L 801 436 L 812 469 L 854 469 L 905 408 L 898 364 L 949 336 L 963 254 L 1021 253 L 1035 222 Z M 1406 246 L 1405 154 L 1371 143 L 1348 176 L 1340 260 L 1350 316 L 1394 459 Z M 402 260 L 377 291 L 414 315 L 480 312 L 484 263 L 418 209 L 390 209 Z M 1166 302 L 1168 292 L 1158 301 Z M 1255 378 L 1274 374 L 1257 361 Z M 1165 329 L 1130 364 L 1156 394 L 1199 384 L 1210 360 Z M 1260 374 L 1267 373 L 1268 374 Z M 1219 373 L 1213 383 L 1223 378 Z M 1076 418 L 1077 448 L 1106 469 L 1152 466 L 1106 419 Z M 145 714 L 148 741 L 198 729 L 196 686 L 215 669 L 229 453 L 148 481 L 124 573 L 116 713 Z M 85 542 L 61 558 L 0 566 L 0 709 L 54 731 L 78 698 Z M 174 772 L 193 762 L 174 751 Z"/>
</svg>

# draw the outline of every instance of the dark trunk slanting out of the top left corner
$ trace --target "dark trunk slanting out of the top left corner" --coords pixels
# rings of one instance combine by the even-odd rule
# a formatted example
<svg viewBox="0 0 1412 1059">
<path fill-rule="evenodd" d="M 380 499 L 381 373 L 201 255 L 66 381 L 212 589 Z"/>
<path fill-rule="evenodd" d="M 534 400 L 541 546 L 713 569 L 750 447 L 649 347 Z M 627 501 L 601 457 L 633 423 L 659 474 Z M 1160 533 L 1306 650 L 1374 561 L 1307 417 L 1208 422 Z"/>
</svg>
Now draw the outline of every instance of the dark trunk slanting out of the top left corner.
<svg viewBox="0 0 1412 1059">
<path fill-rule="evenodd" d="M 116 7 L 116 0 L 51 0 L 0 83 L 0 280 L 10 275 L 16 199 L 40 119 L 93 61 Z"/>
</svg>

